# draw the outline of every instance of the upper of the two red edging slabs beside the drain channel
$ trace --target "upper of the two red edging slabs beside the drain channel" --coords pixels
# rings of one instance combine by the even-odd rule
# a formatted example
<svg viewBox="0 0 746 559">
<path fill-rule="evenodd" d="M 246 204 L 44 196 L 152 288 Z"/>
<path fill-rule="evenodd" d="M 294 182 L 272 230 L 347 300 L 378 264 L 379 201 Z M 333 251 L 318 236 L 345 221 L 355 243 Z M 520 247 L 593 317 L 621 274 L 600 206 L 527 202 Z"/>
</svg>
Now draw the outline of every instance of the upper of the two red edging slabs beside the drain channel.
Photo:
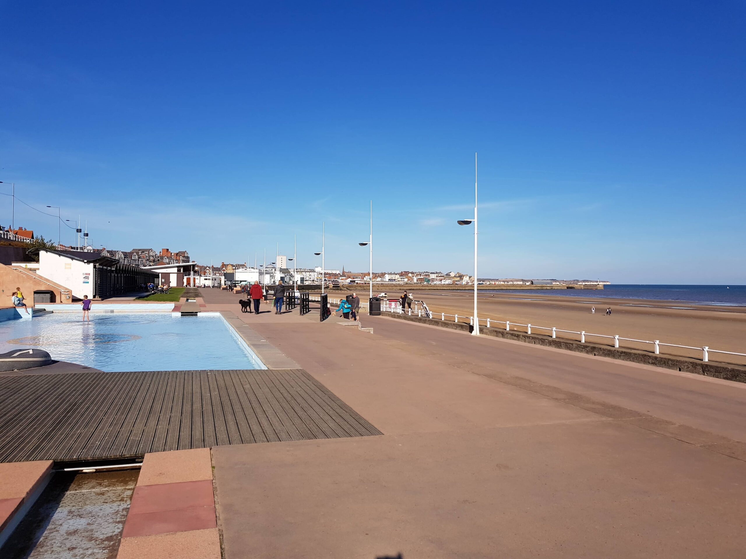
<svg viewBox="0 0 746 559">
<path fill-rule="evenodd" d="M 138 485 L 132 494 L 129 514 L 214 507 L 213 480 Z"/>
</svg>

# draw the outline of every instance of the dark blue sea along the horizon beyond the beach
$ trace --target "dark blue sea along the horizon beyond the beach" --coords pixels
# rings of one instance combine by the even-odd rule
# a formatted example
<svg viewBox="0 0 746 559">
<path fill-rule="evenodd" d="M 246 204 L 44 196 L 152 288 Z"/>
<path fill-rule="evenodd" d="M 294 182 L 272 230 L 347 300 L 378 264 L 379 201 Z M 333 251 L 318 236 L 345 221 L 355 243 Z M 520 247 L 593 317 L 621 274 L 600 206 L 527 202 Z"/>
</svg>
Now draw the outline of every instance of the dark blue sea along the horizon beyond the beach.
<svg viewBox="0 0 746 559">
<path fill-rule="evenodd" d="M 482 293 L 483 291 L 480 291 Z M 604 289 L 500 289 L 492 293 L 583 299 L 648 299 L 697 305 L 746 306 L 746 285 L 606 285 Z"/>
</svg>

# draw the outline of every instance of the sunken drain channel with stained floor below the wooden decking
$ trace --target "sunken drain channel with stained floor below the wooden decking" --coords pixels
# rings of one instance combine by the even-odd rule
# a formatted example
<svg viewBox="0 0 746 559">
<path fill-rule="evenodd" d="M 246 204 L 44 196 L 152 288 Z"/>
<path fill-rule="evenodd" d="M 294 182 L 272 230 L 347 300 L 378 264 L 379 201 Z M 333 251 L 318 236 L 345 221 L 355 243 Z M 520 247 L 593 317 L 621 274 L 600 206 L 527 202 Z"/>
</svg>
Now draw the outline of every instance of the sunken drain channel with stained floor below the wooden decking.
<svg viewBox="0 0 746 559">
<path fill-rule="evenodd" d="M 78 463 L 54 470 L 0 557 L 116 558 L 141 465 Z"/>
</svg>

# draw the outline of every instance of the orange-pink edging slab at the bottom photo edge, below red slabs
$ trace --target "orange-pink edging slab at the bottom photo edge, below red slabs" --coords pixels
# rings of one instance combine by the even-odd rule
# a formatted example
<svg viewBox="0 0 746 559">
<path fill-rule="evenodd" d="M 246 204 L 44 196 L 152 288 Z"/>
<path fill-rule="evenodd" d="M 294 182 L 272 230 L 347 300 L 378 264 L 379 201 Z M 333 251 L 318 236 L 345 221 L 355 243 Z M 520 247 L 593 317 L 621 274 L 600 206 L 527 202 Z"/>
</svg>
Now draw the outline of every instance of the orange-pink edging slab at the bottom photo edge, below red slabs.
<svg viewBox="0 0 746 559">
<path fill-rule="evenodd" d="M 221 559 L 217 528 L 125 537 L 117 559 Z"/>
</svg>

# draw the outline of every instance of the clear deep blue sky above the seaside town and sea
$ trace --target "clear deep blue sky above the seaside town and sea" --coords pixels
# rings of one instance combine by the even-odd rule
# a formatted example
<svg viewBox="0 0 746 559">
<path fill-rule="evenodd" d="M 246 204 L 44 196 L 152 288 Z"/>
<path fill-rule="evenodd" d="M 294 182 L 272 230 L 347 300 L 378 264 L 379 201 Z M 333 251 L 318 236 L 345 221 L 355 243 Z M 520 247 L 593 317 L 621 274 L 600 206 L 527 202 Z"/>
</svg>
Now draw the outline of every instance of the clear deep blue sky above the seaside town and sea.
<svg viewBox="0 0 746 559">
<path fill-rule="evenodd" d="M 367 270 L 372 199 L 377 271 L 469 271 L 477 151 L 480 277 L 746 283 L 745 6 L 0 1 L 0 180 L 202 263 Z"/>
</svg>

